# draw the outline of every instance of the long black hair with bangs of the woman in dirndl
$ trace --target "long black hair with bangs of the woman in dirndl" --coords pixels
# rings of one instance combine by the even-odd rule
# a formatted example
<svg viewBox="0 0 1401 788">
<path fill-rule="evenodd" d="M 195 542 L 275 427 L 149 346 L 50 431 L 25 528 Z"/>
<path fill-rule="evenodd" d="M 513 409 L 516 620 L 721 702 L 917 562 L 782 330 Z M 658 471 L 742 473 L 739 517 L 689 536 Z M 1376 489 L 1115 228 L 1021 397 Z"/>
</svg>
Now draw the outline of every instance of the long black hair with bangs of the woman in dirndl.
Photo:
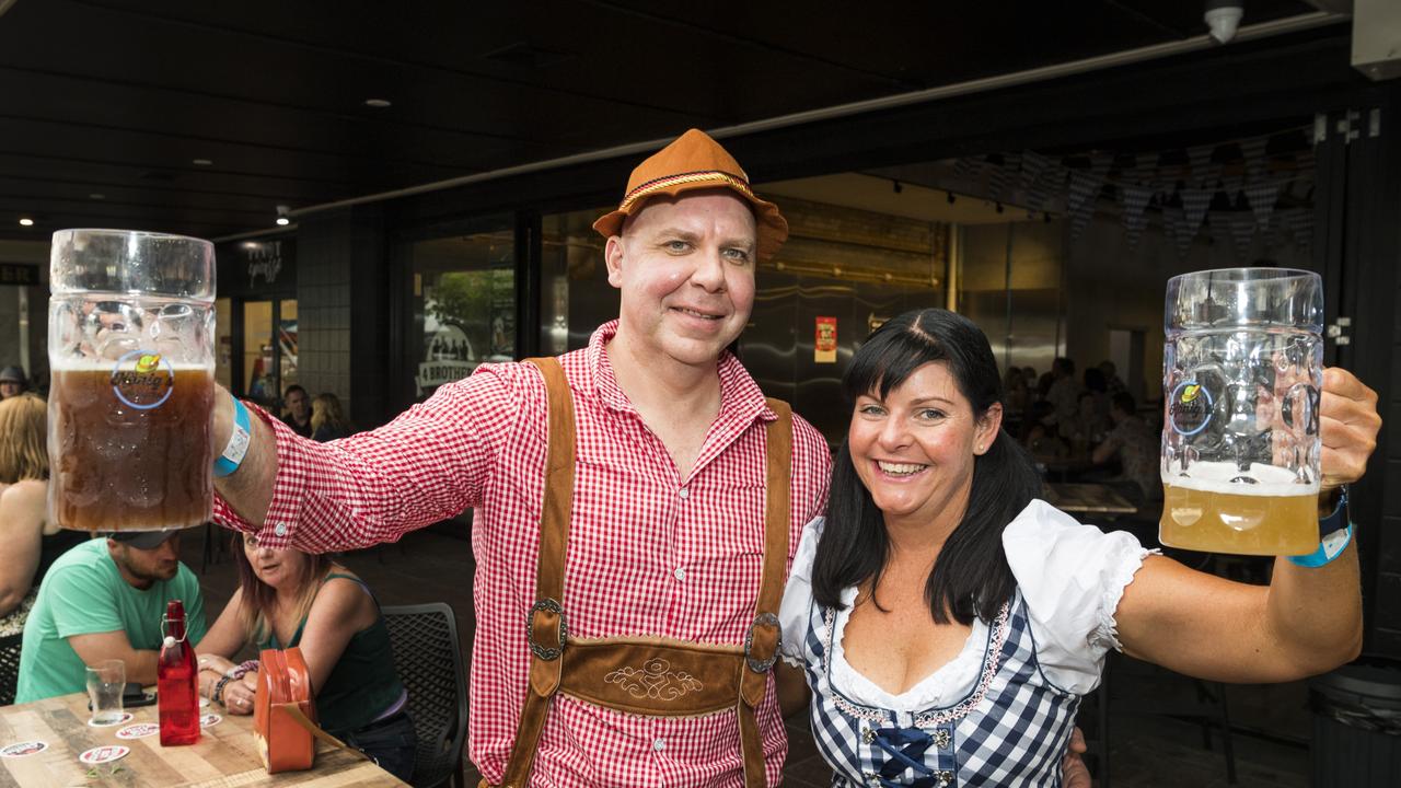
<svg viewBox="0 0 1401 788">
<path fill-rule="evenodd" d="M 972 404 L 975 419 L 1002 401 L 1002 379 L 988 338 L 972 321 L 941 308 L 905 313 L 876 330 L 846 369 L 842 390 L 849 407 L 880 391 L 881 398 L 930 362 L 948 365 L 958 391 Z M 827 506 L 827 526 L 813 565 L 813 596 L 841 609 L 842 589 L 880 583 L 890 552 L 885 520 L 852 466 L 842 442 Z M 944 541 L 925 582 L 925 600 L 934 621 L 960 624 L 974 617 L 992 621 L 1016 592 L 1016 579 L 1002 548 L 1002 530 L 1033 498 L 1041 477 L 1026 450 L 1005 430 L 976 457 L 972 489 L 962 520 Z"/>
</svg>

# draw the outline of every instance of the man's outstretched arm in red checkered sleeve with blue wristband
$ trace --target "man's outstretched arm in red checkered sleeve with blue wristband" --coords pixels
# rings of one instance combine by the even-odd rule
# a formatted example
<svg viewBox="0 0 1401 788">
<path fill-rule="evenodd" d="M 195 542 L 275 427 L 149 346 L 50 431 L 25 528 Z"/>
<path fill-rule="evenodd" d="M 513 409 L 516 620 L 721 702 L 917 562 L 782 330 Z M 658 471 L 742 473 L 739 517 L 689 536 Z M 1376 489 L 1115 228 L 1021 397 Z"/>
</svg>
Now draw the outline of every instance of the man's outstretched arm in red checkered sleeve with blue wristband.
<svg viewBox="0 0 1401 788">
<path fill-rule="evenodd" d="M 532 419 L 544 387 L 538 381 L 521 365 L 483 365 L 389 423 L 329 443 L 220 390 L 216 458 L 234 423 L 248 425 L 249 444 L 238 468 L 216 478 L 214 520 L 272 548 L 328 552 L 395 541 L 479 506 L 503 444 L 524 442 L 544 461 L 544 419 Z"/>
</svg>

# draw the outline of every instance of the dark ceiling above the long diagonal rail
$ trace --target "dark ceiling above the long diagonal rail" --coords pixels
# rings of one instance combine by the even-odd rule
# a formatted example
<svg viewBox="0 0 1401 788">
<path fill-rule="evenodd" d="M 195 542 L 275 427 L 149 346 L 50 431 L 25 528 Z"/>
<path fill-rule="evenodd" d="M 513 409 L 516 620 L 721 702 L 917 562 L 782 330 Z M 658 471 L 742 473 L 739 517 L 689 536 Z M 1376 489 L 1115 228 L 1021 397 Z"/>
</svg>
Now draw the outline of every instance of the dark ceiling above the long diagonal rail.
<svg viewBox="0 0 1401 788">
<path fill-rule="evenodd" d="M 1245 21 L 1311 10 L 1251 0 Z M 101 222 L 226 236 L 270 226 L 276 205 L 1202 29 L 1201 4 L 1178 0 L 17 0 L 0 15 L 0 237 Z"/>
</svg>

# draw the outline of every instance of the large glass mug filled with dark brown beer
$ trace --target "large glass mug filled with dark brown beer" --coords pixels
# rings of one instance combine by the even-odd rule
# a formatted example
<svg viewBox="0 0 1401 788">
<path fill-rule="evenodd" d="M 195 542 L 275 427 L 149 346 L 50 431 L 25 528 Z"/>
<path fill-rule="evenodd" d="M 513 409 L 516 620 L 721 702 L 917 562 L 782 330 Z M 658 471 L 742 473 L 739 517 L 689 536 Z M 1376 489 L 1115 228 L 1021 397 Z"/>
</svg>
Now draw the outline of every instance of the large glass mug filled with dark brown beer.
<svg viewBox="0 0 1401 788">
<path fill-rule="evenodd" d="M 50 286 L 49 517 L 87 531 L 206 522 L 213 244 L 60 230 Z"/>
</svg>

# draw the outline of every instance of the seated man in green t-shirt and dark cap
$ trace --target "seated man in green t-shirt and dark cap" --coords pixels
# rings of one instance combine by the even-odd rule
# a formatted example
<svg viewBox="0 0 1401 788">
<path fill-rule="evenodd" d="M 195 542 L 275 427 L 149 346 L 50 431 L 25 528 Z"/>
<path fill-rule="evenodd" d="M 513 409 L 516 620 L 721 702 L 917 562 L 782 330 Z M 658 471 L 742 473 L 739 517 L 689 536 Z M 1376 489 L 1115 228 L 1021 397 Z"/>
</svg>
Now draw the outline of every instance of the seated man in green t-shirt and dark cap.
<svg viewBox="0 0 1401 788">
<path fill-rule="evenodd" d="M 156 683 L 165 603 L 185 603 L 191 644 L 205 637 L 199 580 L 179 562 L 179 530 L 123 531 L 64 552 L 39 585 L 24 627 L 15 702 L 87 688 L 84 667 L 126 663 L 126 680 Z"/>
</svg>

